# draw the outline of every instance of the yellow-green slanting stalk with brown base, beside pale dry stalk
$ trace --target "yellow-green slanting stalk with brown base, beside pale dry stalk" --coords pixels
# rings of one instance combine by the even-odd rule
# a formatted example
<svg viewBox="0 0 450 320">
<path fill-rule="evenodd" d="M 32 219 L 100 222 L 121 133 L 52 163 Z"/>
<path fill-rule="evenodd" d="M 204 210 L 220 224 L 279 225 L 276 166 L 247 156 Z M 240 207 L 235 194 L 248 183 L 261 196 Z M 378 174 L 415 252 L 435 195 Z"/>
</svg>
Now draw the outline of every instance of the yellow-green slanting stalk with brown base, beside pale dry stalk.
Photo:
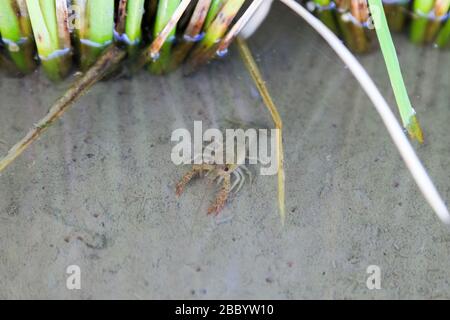
<svg viewBox="0 0 450 320">
<path fill-rule="evenodd" d="M 206 29 L 204 38 L 197 44 L 188 60 L 187 73 L 198 69 L 216 55 L 219 41 L 222 39 L 245 0 L 228 0 L 215 20 Z"/>
</svg>

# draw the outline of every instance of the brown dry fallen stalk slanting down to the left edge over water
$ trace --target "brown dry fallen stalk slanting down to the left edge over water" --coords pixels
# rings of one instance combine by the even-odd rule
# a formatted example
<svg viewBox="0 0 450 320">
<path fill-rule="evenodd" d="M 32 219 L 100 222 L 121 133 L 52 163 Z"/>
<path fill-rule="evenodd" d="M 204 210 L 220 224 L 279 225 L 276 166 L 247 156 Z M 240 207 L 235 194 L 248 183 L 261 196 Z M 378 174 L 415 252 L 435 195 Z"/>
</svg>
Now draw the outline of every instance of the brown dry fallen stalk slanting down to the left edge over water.
<svg viewBox="0 0 450 320">
<path fill-rule="evenodd" d="M 35 1 L 35 0 L 31 0 Z M 0 173 L 5 170 L 15 159 L 17 159 L 34 141 L 69 109 L 84 93 L 86 93 L 95 83 L 100 81 L 112 68 L 125 58 L 126 52 L 115 45 L 111 45 L 105 53 L 97 59 L 95 64 L 79 78 L 71 88 L 59 98 L 50 108 L 47 115 L 38 121 L 28 134 L 15 144 L 0 160 Z"/>
</svg>

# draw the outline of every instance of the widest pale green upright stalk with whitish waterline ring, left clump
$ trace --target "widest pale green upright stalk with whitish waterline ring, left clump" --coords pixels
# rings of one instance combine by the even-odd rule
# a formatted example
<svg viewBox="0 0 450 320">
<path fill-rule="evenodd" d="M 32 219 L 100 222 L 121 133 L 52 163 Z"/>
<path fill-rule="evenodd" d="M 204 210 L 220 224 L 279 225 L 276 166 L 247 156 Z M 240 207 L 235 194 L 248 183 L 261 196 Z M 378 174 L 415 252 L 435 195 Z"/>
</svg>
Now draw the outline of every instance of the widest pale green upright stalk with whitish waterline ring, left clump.
<svg viewBox="0 0 450 320">
<path fill-rule="evenodd" d="M 86 71 L 114 39 L 114 0 L 73 0 L 79 65 Z"/>
</svg>

